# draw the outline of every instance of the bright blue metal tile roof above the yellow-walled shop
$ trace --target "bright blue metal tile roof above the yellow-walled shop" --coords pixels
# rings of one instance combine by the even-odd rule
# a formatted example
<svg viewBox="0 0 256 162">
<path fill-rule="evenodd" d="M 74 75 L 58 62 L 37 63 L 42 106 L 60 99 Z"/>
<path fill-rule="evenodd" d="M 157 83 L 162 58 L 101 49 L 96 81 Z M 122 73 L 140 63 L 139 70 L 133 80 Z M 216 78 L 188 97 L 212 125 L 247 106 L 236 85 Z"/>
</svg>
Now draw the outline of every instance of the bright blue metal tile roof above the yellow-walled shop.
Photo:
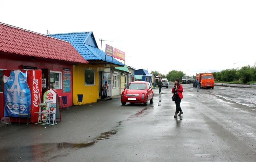
<svg viewBox="0 0 256 162">
<path fill-rule="evenodd" d="M 52 37 L 59 38 L 65 41 L 69 41 L 74 48 L 84 57 L 87 61 L 102 60 L 112 63 L 112 57 L 106 55 L 105 52 L 98 48 L 92 31 L 91 32 L 76 32 L 76 33 L 60 33 L 52 34 Z M 114 64 L 124 65 L 113 58 Z"/>
</svg>

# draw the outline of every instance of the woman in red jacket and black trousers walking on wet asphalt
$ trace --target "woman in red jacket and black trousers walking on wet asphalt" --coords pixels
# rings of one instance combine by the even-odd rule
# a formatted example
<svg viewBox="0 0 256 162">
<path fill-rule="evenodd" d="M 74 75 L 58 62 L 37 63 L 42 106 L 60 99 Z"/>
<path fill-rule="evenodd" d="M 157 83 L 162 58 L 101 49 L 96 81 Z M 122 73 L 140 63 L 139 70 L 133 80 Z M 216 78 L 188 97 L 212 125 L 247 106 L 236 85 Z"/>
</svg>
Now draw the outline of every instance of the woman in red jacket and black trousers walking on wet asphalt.
<svg viewBox="0 0 256 162">
<path fill-rule="evenodd" d="M 180 79 L 179 78 L 176 78 L 174 79 L 174 86 L 172 87 L 172 93 L 173 95 L 176 95 L 177 99 L 175 101 L 175 104 L 176 104 L 176 111 L 175 111 L 175 114 L 174 114 L 174 118 L 177 117 L 177 114 L 179 113 L 179 116 L 181 114 L 183 114 L 181 108 L 180 108 L 180 101 L 181 99 L 183 98 L 183 95 L 182 95 L 182 92 L 183 92 L 183 87 L 182 85 L 180 84 Z"/>
</svg>

